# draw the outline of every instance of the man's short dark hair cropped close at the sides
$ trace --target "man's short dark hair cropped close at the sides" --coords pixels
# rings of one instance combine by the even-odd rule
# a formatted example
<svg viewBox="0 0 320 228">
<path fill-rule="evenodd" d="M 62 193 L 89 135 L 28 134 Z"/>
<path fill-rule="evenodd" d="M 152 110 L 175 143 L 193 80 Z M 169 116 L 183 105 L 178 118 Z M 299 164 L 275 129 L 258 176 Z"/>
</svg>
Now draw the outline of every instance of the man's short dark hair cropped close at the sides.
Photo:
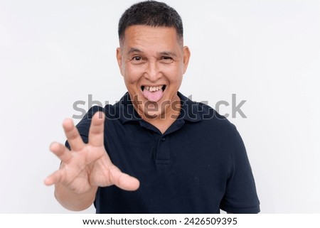
<svg viewBox="0 0 320 228">
<path fill-rule="evenodd" d="M 120 43 L 124 31 L 129 26 L 146 25 L 153 27 L 174 27 L 178 38 L 183 39 L 183 25 L 178 12 L 167 4 L 159 1 L 142 1 L 124 11 L 118 26 Z"/>
</svg>

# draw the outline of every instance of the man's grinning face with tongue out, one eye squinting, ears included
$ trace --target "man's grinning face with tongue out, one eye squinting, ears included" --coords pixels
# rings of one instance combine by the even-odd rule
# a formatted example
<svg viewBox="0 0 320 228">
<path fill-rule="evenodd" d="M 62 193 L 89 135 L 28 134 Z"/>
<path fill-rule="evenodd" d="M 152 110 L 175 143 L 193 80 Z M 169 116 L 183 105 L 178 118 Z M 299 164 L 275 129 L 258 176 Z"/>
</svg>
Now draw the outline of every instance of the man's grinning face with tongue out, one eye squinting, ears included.
<svg viewBox="0 0 320 228">
<path fill-rule="evenodd" d="M 190 52 L 171 27 L 129 26 L 117 61 L 130 98 L 142 118 L 171 114 Z M 175 110 L 176 111 L 176 110 Z"/>
</svg>

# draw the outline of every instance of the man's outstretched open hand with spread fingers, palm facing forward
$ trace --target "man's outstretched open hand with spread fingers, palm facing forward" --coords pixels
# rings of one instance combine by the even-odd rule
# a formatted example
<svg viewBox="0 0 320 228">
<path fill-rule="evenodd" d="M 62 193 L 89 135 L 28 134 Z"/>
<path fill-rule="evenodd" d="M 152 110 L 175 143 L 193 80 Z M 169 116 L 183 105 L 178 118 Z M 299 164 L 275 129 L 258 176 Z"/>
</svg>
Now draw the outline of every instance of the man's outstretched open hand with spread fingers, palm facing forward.
<svg viewBox="0 0 320 228">
<path fill-rule="evenodd" d="M 117 185 L 123 190 L 137 190 L 139 180 L 122 173 L 105 150 L 105 114 L 92 116 L 89 141 L 84 143 L 71 119 L 63 121 L 63 129 L 71 150 L 61 143 L 52 143 L 50 151 L 62 161 L 60 169 L 45 180 L 46 185 L 62 184 L 75 193 L 82 194 L 92 188 Z"/>
</svg>

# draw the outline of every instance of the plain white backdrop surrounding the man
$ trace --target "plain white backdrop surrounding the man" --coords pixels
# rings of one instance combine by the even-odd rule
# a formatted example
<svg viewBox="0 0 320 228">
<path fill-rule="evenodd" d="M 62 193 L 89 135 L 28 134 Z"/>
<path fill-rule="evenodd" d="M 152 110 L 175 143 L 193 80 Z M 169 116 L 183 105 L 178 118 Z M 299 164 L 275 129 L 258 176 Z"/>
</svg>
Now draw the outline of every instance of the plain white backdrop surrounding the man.
<svg viewBox="0 0 320 228">
<path fill-rule="evenodd" d="M 117 23 L 137 1 L 0 1 L 0 213 L 70 213 L 43 179 L 88 95 L 124 92 Z M 237 103 L 262 213 L 320 212 L 320 1 L 169 1 L 191 62 L 180 91 Z M 220 113 L 231 114 L 231 106 Z M 75 119 L 78 122 L 79 119 Z M 85 212 L 95 212 L 94 207 Z"/>
</svg>

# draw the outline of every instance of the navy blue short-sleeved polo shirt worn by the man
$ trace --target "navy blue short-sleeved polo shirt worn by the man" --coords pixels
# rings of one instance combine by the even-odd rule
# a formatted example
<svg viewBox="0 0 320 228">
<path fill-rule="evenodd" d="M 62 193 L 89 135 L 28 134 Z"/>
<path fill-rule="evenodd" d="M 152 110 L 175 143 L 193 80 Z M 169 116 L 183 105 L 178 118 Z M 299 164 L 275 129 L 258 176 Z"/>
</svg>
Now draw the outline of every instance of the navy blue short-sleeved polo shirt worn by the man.
<svg viewBox="0 0 320 228">
<path fill-rule="evenodd" d="M 208 105 L 178 96 L 180 116 L 164 134 L 140 118 L 128 93 L 114 105 L 92 107 L 77 125 L 87 142 L 92 115 L 105 112 L 105 148 L 112 163 L 140 181 L 132 192 L 98 188 L 97 213 L 260 212 L 235 126 Z"/>
</svg>

